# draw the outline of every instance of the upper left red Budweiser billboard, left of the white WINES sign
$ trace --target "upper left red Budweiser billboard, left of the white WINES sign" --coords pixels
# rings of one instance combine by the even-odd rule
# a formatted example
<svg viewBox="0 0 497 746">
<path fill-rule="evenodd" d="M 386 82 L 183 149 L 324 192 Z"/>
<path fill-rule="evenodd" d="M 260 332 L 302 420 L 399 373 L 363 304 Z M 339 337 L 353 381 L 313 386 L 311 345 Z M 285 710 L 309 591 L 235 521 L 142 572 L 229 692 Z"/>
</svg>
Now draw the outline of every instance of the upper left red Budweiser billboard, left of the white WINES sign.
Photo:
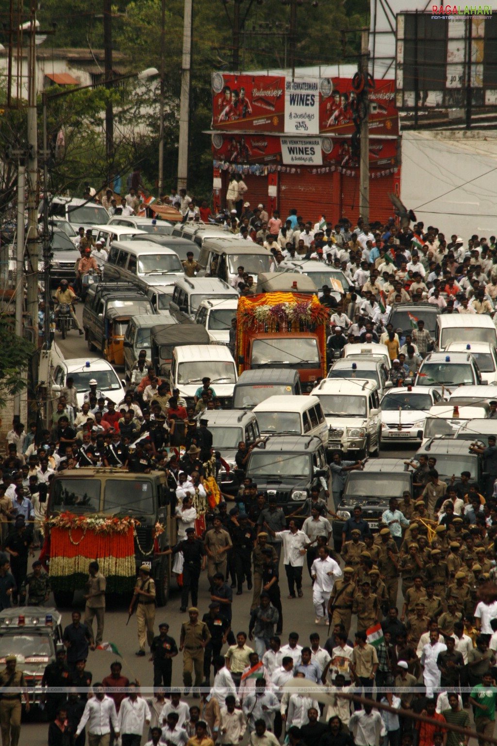
<svg viewBox="0 0 497 746">
<path fill-rule="evenodd" d="M 212 75 L 212 127 L 219 130 L 285 131 L 285 78 Z"/>
</svg>

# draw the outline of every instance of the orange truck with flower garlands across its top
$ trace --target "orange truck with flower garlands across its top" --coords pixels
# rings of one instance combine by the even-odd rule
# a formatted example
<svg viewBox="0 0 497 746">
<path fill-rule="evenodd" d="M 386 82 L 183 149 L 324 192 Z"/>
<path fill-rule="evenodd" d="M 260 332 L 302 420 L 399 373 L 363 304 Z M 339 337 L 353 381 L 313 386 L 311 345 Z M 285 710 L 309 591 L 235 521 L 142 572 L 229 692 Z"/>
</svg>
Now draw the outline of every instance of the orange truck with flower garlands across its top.
<svg viewBox="0 0 497 746">
<path fill-rule="evenodd" d="M 328 310 L 316 295 L 266 292 L 238 301 L 235 360 L 238 375 L 264 368 L 291 368 L 303 393 L 326 376 Z"/>
</svg>

